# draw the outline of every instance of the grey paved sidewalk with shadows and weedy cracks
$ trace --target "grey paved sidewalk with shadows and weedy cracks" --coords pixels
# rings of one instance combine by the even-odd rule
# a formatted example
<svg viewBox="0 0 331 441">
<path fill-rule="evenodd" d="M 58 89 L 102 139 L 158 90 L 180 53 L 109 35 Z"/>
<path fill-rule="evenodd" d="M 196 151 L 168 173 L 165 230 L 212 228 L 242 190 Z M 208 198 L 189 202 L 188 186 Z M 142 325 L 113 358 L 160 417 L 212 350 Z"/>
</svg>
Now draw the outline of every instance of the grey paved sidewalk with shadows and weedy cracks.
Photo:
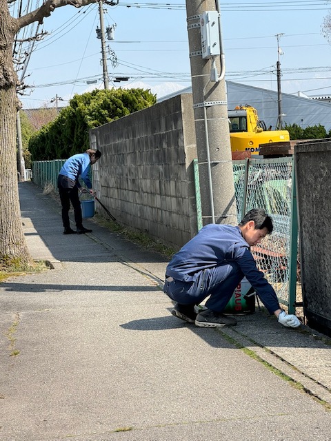
<svg viewBox="0 0 331 441">
<path fill-rule="evenodd" d="M 1 441 L 331 440 L 330 339 L 263 311 L 182 322 L 167 260 L 93 218 L 63 236 L 57 202 L 19 192 L 30 252 L 54 269 L 0 285 Z"/>
</svg>

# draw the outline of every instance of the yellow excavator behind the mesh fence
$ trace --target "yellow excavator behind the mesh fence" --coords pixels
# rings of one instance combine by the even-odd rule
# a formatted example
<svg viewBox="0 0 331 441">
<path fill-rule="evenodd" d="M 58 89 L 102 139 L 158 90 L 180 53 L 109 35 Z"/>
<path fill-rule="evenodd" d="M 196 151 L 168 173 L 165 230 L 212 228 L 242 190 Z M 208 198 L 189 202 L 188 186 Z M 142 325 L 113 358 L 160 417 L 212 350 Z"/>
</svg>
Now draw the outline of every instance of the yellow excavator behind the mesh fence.
<svg viewBox="0 0 331 441">
<path fill-rule="evenodd" d="M 290 141 L 288 130 L 271 130 L 259 119 L 257 110 L 250 105 L 228 110 L 232 152 L 259 154 L 260 144 Z"/>
</svg>

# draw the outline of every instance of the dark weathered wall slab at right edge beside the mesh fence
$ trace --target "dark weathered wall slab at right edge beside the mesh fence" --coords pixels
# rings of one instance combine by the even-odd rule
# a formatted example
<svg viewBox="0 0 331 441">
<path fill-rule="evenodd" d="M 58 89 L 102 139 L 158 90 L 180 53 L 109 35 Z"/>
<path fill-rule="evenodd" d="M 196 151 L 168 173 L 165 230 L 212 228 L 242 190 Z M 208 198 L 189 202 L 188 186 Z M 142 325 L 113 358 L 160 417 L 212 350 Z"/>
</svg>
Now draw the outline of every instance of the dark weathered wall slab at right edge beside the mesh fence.
<svg viewBox="0 0 331 441">
<path fill-rule="evenodd" d="M 303 309 L 308 325 L 331 336 L 331 141 L 294 146 Z"/>
</svg>

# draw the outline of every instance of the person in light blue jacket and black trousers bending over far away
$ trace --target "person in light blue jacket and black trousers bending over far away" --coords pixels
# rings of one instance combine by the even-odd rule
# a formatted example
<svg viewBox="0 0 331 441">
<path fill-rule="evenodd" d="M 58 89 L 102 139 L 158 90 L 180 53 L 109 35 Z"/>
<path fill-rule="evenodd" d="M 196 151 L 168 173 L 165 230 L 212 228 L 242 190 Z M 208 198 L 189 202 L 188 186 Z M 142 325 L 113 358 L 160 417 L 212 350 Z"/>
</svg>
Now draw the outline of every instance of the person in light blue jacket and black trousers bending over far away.
<svg viewBox="0 0 331 441">
<path fill-rule="evenodd" d="M 84 234 L 92 232 L 92 229 L 83 227 L 83 217 L 81 214 L 81 202 L 79 201 L 80 192 L 90 192 L 92 196 L 95 195 L 92 189 L 92 183 L 88 177 L 90 165 L 95 164 L 101 157 L 99 150 L 88 149 L 85 153 L 74 154 L 63 164 L 59 176 L 57 178 L 57 187 L 62 205 L 62 222 L 64 231 L 63 234 Z M 78 179 L 81 178 L 88 190 L 83 189 Z M 76 231 L 70 228 L 69 210 L 70 202 L 74 209 L 74 220 L 76 222 Z"/>
</svg>

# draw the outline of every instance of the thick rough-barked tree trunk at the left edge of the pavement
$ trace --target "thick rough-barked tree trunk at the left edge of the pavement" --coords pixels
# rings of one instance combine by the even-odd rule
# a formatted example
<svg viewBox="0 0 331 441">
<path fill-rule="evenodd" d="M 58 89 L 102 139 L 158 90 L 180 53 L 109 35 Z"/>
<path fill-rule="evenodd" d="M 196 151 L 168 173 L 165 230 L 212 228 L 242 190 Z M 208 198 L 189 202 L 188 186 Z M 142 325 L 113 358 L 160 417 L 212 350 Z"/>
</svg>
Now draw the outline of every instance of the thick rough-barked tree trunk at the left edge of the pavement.
<svg viewBox="0 0 331 441">
<path fill-rule="evenodd" d="M 0 0 L 0 266 L 33 265 L 23 234 L 17 180 L 17 75 L 12 63 L 17 30 L 7 0 Z"/>
</svg>

